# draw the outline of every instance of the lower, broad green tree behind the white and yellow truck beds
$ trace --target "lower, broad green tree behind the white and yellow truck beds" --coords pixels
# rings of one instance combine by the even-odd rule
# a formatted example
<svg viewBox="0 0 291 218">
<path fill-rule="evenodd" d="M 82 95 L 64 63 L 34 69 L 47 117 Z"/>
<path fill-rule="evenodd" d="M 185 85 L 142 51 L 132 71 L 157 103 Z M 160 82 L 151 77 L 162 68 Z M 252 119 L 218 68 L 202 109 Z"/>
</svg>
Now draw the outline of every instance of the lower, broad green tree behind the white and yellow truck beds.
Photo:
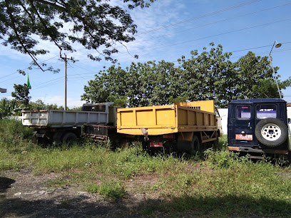
<svg viewBox="0 0 291 218">
<path fill-rule="evenodd" d="M 173 63 L 165 61 L 131 63 L 125 70 L 119 65 L 113 65 L 98 73 L 95 80 L 88 81 L 81 99 L 101 103 L 112 101 L 113 95 L 114 99 L 121 100 L 125 96 L 128 106 L 131 107 L 163 105 L 169 103 L 170 96 L 176 98 L 180 95 L 173 88 L 174 83 L 170 83 L 170 77 L 175 75 L 176 70 Z"/>
</svg>

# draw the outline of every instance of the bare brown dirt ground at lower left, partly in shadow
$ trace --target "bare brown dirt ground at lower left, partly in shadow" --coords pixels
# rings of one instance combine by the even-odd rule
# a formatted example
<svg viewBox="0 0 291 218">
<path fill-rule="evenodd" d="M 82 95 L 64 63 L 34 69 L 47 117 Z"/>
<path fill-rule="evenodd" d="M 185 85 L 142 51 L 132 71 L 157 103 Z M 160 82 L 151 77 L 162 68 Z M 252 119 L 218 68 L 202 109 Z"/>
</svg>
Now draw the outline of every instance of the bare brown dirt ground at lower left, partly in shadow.
<svg viewBox="0 0 291 218">
<path fill-rule="evenodd" d="M 98 194 L 82 192 L 77 185 L 48 190 L 46 181 L 58 176 L 35 176 L 29 170 L 1 172 L 0 217 L 144 217 L 139 209 L 146 194 L 129 192 L 125 199 L 106 201 Z M 153 180 L 143 178 L 134 184 L 147 181 Z"/>
</svg>

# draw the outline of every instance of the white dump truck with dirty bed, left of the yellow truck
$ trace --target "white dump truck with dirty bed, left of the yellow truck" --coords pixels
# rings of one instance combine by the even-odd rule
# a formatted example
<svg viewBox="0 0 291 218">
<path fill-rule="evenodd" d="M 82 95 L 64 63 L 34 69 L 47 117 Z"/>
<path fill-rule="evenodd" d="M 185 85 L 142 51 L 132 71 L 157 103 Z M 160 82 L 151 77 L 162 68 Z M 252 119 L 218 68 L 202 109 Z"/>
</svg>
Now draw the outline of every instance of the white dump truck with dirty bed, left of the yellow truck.
<svg viewBox="0 0 291 218">
<path fill-rule="evenodd" d="M 86 103 L 76 110 L 23 110 L 22 124 L 34 128 L 34 139 L 43 144 L 77 140 L 83 125 L 105 128 L 116 125 L 116 107 L 111 103 Z M 105 137 L 106 138 L 106 135 Z"/>
</svg>

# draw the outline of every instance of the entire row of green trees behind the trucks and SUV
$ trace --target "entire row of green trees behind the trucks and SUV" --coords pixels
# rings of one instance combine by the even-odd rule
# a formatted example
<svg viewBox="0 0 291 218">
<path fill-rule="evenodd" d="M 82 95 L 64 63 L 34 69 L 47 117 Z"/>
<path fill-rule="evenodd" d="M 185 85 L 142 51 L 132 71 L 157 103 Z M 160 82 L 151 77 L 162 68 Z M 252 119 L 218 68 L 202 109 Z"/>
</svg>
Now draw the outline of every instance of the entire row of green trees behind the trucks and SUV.
<svg viewBox="0 0 291 218">
<path fill-rule="evenodd" d="M 225 108 L 235 99 L 279 98 L 267 57 L 250 51 L 233 63 L 232 54 L 223 53 L 223 46 L 215 47 L 214 43 L 210 43 L 209 51 L 203 48 L 202 53 L 195 50 L 190 55 L 189 59 L 179 58 L 178 66 L 148 61 L 131 63 L 125 69 L 119 64 L 103 69 L 85 85 L 81 99 L 101 103 L 115 96 L 130 107 L 215 100 L 220 108 Z M 286 81 L 279 79 L 278 83 L 281 90 L 285 89 L 291 85 L 291 77 Z"/>
</svg>

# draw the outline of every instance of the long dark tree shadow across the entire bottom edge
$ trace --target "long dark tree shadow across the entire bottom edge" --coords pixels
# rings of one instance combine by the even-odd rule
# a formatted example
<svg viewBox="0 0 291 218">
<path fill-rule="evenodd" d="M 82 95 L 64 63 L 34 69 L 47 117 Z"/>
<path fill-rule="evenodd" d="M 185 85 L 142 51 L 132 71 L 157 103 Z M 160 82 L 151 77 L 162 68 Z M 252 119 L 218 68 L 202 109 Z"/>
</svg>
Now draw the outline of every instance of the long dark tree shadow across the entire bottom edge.
<svg viewBox="0 0 291 218">
<path fill-rule="evenodd" d="M 291 204 L 267 198 L 179 197 L 148 199 L 131 204 L 131 199 L 115 202 L 88 202 L 73 197 L 56 204 L 56 199 L 0 201 L 0 217 L 289 217 Z"/>
</svg>

